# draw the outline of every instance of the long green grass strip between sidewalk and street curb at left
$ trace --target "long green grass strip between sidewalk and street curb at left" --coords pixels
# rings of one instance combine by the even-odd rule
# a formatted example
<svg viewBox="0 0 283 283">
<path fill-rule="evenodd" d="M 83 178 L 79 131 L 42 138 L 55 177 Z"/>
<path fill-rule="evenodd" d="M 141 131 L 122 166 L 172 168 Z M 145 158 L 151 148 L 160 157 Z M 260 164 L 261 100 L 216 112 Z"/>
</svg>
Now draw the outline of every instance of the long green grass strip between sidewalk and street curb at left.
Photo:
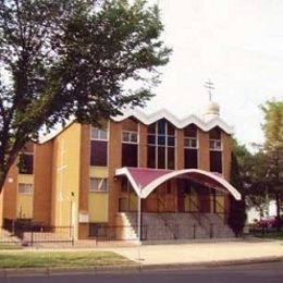
<svg viewBox="0 0 283 283">
<path fill-rule="evenodd" d="M 0 251 L 0 268 L 85 268 L 130 264 L 134 262 L 111 251 Z"/>
</svg>

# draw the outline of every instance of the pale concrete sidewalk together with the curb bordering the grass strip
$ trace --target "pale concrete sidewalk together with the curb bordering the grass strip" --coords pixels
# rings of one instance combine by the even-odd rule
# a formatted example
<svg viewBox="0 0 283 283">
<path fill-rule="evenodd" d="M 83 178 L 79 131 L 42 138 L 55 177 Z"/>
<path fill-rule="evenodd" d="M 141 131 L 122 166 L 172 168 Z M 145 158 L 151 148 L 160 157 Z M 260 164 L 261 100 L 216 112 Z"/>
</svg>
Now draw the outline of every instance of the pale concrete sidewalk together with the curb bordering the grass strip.
<svg viewBox="0 0 283 283">
<path fill-rule="evenodd" d="M 127 247 L 95 247 L 78 245 L 73 248 L 26 248 L 28 251 L 82 251 L 110 250 L 120 254 L 137 264 L 128 267 L 86 267 L 86 268 L 30 268 L 2 269 L 0 278 L 13 275 L 56 275 L 93 272 L 137 272 L 143 270 L 164 270 L 180 268 L 207 268 L 211 266 L 246 264 L 256 262 L 282 261 L 283 241 L 229 241 L 212 243 L 188 243 L 167 245 L 145 245 Z M 16 253 L 7 250 L 5 253 Z"/>
</svg>

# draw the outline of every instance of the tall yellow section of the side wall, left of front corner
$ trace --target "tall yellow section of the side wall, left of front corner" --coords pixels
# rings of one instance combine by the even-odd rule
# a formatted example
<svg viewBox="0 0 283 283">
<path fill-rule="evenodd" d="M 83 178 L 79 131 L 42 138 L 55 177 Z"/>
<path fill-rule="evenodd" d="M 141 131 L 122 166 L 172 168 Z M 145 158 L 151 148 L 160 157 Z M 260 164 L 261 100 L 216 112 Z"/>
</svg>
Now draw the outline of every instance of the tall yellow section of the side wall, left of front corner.
<svg viewBox="0 0 283 283">
<path fill-rule="evenodd" d="M 54 139 L 52 223 L 74 226 L 77 238 L 81 167 L 81 124 L 73 123 Z"/>
</svg>

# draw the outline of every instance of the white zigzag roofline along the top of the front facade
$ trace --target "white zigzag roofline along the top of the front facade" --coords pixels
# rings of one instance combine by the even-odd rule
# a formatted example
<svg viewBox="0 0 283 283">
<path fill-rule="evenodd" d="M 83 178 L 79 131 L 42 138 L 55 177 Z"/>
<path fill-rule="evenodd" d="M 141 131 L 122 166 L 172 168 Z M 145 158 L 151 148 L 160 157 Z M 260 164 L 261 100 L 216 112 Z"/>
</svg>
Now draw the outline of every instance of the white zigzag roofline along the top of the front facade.
<svg viewBox="0 0 283 283">
<path fill-rule="evenodd" d="M 127 118 L 131 118 L 131 116 L 137 119 L 139 122 L 142 122 L 146 125 L 155 123 L 158 120 L 164 118 L 177 128 L 184 128 L 185 126 L 187 126 L 189 124 L 195 124 L 196 126 L 198 126 L 204 132 L 208 132 L 211 128 L 219 126 L 220 128 L 222 128 L 227 134 L 234 133 L 234 127 L 226 124 L 219 116 L 214 116 L 214 118 L 212 118 L 208 121 L 200 119 L 199 116 L 197 116 L 195 114 L 190 114 L 190 115 L 188 115 L 184 119 L 179 119 L 174 114 L 172 114 L 170 111 L 168 111 L 167 109 L 158 110 L 157 112 L 153 112 L 151 114 L 145 114 L 143 111 L 140 111 L 138 109 L 136 109 L 136 110 L 131 109 L 131 110 L 125 111 L 123 113 L 123 115 L 113 116 L 111 119 L 115 122 L 121 122 L 121 121 L 123 121 Z"/>
</svg>

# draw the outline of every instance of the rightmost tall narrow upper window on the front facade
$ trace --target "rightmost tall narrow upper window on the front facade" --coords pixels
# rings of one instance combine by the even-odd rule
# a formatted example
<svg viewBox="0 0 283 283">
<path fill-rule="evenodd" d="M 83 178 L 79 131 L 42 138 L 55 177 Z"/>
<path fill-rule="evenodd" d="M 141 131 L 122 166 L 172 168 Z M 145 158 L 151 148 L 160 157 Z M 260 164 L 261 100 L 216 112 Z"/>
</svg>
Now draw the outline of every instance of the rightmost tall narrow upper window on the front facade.
<svg viewBox="0 0 283 283">
<path fill-rule="evenodd" d="M 210 171 L 222 173 L 222 143 L 221 130 L 214 127 L 209 132 Z"/>
</svg>

